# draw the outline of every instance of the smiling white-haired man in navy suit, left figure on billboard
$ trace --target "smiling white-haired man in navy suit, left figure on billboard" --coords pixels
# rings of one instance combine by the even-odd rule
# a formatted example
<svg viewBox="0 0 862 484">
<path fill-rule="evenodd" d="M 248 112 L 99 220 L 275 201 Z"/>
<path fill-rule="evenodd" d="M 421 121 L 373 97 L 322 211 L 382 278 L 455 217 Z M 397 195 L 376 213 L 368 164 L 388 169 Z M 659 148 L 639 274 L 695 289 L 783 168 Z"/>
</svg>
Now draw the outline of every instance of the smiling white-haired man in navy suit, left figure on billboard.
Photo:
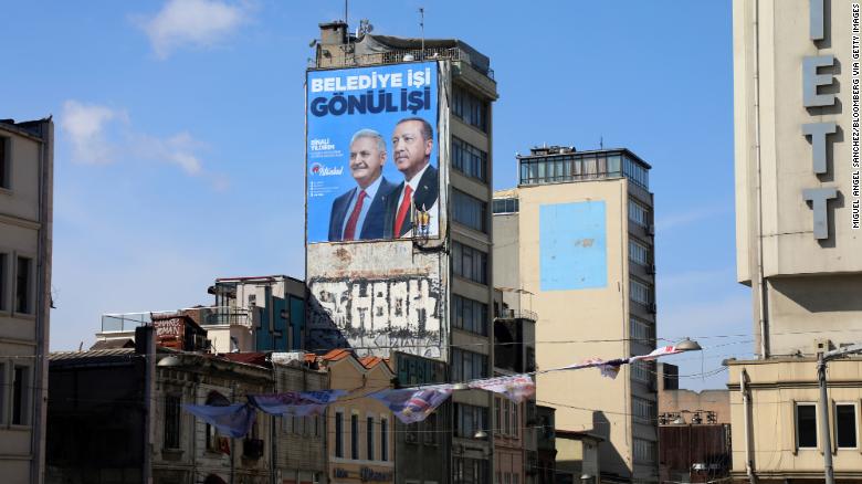
<svg viewBox="0 0 862 484">
<path fill-rule="evenodd" d="M 382 239 L 389 196 L 396 188 L 383 173 L 386 143 L 374 129 L 360 129 L 350 139 L 350 173 L 356 188 L 333 202 L 329 242 Z"/>
</svg>

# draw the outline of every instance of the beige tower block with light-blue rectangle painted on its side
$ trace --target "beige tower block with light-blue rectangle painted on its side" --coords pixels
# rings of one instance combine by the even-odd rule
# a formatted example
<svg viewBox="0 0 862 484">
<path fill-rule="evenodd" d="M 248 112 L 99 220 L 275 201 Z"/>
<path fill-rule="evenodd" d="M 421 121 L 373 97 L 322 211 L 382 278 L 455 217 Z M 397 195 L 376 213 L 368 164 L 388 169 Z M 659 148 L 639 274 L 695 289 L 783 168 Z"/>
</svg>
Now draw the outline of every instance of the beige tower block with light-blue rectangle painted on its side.
<svg viewBox="0 0 862 484">
<path fill-rule="evenodd" d="M 555 146 L 517 158 L 518 187 L 494 193 L 494 284 L 509 290 L 509 307 L 538 314 L 538 368 L 652 350 L 650 166 L 628 149 Z M 601 482 L 658 480 L 652 364 L 624 366 L 616 380 L 540 373 L 537 387 L 558 430 L 603 439 Z"/>
</svg>

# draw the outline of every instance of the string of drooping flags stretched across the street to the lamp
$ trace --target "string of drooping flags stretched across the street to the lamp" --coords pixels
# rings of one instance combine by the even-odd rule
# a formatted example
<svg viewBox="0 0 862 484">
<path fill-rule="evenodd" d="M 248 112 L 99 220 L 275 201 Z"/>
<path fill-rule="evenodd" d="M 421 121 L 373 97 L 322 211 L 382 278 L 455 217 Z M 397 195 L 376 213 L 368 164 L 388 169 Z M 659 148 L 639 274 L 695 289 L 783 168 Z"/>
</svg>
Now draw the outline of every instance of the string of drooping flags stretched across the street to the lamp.
<svg viewBox="0 0 862 484">
<path fill-rule="evenodd" d="M 560 368 L 537 371 L 546 373 L 550 371 L 577 370 L 581 368 L 598 368 L 601 376 L 614 379 L 622 365 L 634 361 L 652 361 L 663 356 L 683 353 L 675 346 L 663 346 L 652 350 L 648 355 L 638 355 L 628 358 L 614 358 L 603 360 L 601 358 L 588 358 L 579 364 Z M 534 373 L 518 373 L 494 378 L 472 380 L 467 388 L 480 389 L 500 393 L 515 403 L 536 393 Z M 374 398 L 389 408 L 403 423 L 421 422 L 440 407 L 455 390 L 454 383 L 430 385 L 422 387 L 385 389 L 369 393 L 365 397 Z M 249 403 L 234 403 L 227 407 L 183 404 L 182 407 L 213 425 L 220 432 L 231 436 L 242 436 L 249 432 L 254 423 L 254 409 L 263 412 L 281 415 L 305 417 L 320 414 L 326 407 L 348 394 L 345 390 L 319 391 L 287 391 L 272 394 L 249 394 Z"/>
</svg>

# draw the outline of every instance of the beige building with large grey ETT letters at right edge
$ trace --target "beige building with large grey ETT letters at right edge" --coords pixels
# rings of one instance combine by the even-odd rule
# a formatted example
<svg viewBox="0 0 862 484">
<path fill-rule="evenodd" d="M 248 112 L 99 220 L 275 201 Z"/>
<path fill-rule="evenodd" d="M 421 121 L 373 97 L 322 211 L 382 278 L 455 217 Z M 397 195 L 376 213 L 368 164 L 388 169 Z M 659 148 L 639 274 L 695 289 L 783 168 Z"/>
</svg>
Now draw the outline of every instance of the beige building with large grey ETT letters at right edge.
<svg viewBox="0 0 862 484">
<path fill-rule="evenodd" d="M 858 480 L 862 360 L 830 364 L 823 422 L 814 359 L 861 338 L 859 7 L 733 6 L 737 277 L 757 355 L 729 362 L 733 474 L 822 482 L 827 425 L 835 477 Z"/>
</svg>

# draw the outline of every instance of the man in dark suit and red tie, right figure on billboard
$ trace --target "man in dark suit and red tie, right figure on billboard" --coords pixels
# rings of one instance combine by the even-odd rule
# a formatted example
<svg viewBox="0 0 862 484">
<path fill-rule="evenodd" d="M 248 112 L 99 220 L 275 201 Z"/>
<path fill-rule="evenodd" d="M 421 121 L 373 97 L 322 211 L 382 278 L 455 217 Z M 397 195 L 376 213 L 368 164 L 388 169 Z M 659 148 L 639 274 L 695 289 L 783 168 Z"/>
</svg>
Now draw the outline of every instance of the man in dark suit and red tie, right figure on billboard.
<svg viewBox="0 0 862 484">
<path fill-rule="evenodd" d="M 386 236 L 399 239 L 438 234 L 438 170 L 431 166 L 434 129 L 421 117 L 401 119 L 392 133 L 392 159 L 404 181 L 389 197 Z M 413 228 L 417 213 L 423 227 Z M 416 229 L 416 230 L 414 230 Z M 421 230 L 419 230 L 421 229 Z"/>
</svg>

